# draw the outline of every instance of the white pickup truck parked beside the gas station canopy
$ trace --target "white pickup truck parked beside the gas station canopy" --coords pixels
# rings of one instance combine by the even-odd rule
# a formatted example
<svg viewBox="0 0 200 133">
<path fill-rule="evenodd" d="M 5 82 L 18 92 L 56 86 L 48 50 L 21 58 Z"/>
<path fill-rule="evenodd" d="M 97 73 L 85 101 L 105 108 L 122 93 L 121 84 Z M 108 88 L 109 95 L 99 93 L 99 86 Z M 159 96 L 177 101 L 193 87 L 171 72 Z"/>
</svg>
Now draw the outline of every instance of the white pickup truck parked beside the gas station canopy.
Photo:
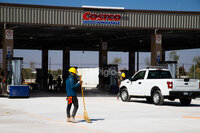
<svg viewBox="0 0 200 133">
<path fill-rule="evenodd" d="M 119 91 L 122 101 L 136 97 L 162 105 L 164 99 L 180 99 L 186 106 L 192 99 L 200 97 L 200 83 L 198 79 L 172 79 L 168 69 L 149 67 L 122 81 Z"/>
</svg>

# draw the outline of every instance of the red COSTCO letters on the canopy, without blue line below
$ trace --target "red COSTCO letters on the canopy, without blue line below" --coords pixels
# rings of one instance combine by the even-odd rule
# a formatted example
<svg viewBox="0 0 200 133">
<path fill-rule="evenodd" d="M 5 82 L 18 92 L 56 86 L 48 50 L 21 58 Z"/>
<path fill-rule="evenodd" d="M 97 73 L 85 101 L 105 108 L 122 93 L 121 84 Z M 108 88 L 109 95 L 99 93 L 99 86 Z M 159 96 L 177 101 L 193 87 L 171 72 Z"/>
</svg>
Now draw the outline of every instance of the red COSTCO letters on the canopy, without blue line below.
<svg viewBox="0 0 200 133">
<path fill-rule="evenodd" d="M 86 12 L 83 14 L 84 20 L 108 20 L 108 21 L 119 21 L 121 19 L 121 15 L 116 14 L 91 14 L 90 12 Z"/>
</svg>

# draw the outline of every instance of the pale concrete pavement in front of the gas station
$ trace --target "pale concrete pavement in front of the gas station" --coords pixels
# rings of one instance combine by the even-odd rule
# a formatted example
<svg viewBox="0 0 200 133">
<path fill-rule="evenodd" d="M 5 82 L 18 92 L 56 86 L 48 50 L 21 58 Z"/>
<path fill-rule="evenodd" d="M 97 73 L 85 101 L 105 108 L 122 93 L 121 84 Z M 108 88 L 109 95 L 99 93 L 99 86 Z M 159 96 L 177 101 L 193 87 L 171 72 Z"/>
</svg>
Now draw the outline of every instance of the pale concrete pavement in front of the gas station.
<svg viewBox="0 0 200 133">
<path fill-rule="evenodd" d="M 200 100 L 191 106 L 167 101 L 163 106 L 148 104 L 145 99 L 122 102 L 116 97 L 86 97 L 86 109 L 92 123 L 83 120 L 79 99 L 78 123 L 66 122 L 64 96 L 8 99 L 0 97 L 2 133 L 198 133 Z"/>
</svg>

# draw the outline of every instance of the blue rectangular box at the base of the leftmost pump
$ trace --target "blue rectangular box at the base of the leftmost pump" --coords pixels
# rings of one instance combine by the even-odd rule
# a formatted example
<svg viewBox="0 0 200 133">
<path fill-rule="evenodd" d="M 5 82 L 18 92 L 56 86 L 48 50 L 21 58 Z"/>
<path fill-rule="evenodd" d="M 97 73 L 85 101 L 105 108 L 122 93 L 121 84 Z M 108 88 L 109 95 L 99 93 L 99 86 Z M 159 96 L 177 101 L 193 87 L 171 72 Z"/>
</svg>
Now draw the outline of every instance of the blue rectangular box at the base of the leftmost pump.
<svg viewBox="0 0 200 133">
<path fill-rule="evenodd" d="M 13 85 L 9 87 L 9 97 L 29 97 L 28 85 Z"/>
</svg>

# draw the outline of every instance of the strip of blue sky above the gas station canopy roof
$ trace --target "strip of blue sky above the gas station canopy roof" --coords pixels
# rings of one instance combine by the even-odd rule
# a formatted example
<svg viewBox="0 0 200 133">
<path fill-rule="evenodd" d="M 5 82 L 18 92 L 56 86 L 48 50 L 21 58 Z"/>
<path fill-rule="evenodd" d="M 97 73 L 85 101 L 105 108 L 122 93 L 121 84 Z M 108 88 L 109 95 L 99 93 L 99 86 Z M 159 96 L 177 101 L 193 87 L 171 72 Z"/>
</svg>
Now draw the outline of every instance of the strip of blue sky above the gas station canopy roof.
<svg viewBox="0 0 200 133">
<path fill-rule="evenodd" d="M 117 6 L 126 9 L 199 11 L 200 0 L 0 0 L 6 3 L 51 6 Z"/>
</svg>

